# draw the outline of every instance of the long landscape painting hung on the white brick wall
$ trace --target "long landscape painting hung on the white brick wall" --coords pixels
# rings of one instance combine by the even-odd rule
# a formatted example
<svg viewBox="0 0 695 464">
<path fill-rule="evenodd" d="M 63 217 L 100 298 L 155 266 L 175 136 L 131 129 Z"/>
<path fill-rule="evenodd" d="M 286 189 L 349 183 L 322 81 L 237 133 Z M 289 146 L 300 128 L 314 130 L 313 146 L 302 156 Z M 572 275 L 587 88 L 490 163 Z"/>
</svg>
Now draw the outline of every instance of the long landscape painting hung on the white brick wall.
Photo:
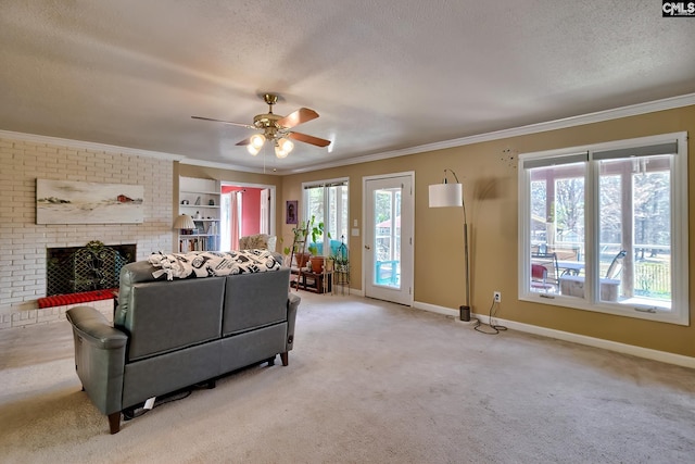
<svg viewBox="0 0 695 464">
<path fill-rule="evenodd" d="M 144 187 L 36 179 L 36 224 L 140 224 Z"/>
</svg>

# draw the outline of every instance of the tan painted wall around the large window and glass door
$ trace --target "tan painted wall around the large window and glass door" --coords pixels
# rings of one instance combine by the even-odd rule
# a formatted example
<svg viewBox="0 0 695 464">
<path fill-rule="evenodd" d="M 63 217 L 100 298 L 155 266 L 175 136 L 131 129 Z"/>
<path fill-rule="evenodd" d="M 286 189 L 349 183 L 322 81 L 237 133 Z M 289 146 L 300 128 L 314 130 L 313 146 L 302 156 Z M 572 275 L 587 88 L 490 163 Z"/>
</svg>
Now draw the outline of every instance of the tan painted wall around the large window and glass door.
<svg viewBox="0 0 695 464">
<path fill-rule="evenodd" d="M 463 304 L 463 213 L 428 208 L 428 186 L 441 181 L 445 167 L 464 184 L 471 240 L 471 302 L 486 314 L 492 292 L 503 293 L 497 316 L 525 324 L 695 356 L 695 328 L 611 316 L 517 299 L 517 168 L 508 155 L 657 134 L 686 130 L 688 179 L 695 170 L 695 106 L 661 111 L 616 121 L 501 139 L 484 143 L 418 153 L 397 159 L 291 175 L 283 178 L 280 201 L 301 199 L 301 183 L 350 177 L 350 223 L 362 225 L 364 176 L 415 171 L 415 301 L 456 309 Z M 515 160 L 516 161 L 516 160 Z M 691 181 L 688 180 L 688 185 Z M 695 190 L 690 189 L 691 238 L 695 222 Z M 291 237 L 285 227 L 283 235 Z M 692 240 L 691 240 L 692 241 Z M 445 247 L 442 249 L 442 243 Z M 350 237 L 352 287 L 362 283 L 362 237 Z M 695 297 L 695 242 L 691 243 L 691 301 Z M 452 310 L 452 314 L 455 314 Z M 691 319 L 694 315 L 691 311 Z M 693 321 L 695 322 L 695 321 Z"/>
</svg>

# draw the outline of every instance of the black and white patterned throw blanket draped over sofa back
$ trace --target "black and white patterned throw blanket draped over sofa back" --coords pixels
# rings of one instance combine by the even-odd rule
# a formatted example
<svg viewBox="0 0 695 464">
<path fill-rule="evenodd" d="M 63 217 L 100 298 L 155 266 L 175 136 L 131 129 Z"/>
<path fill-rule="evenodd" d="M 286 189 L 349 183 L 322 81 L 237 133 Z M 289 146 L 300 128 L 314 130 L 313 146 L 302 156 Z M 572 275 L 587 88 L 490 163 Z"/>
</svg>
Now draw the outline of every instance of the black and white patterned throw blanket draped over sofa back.
<svg viewBox="0 0 695 464">
<path fill-rule="evenodd" d="M 264 273 L 278 271 L 280 262 L 268 250 L 192 251 L 189 253 L 162 252 L 148 258 L 150 264 L 161 267 L 152 273 L 154 278 L 166 274 L 167 280 L 176 278 L 227 276 L 230 274 Z"/>
</svg>

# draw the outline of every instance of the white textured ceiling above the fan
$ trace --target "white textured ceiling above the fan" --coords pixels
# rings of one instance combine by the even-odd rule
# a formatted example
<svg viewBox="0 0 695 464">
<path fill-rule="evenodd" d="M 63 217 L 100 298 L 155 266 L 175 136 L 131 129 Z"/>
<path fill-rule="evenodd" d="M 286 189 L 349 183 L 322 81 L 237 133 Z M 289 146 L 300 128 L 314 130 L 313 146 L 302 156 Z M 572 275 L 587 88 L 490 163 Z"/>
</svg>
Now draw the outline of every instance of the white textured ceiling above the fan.
<svg viewBox="0 0 695 464">
<path fill-rule="evenodd" d="M 292 172 L 695 92 L 657 0 L 0 2 L 0 129 Z M 236 143 L 281 96 L 285 160 Z M 265 156 L 264 156 L 265 154 Z"/>
</svg>

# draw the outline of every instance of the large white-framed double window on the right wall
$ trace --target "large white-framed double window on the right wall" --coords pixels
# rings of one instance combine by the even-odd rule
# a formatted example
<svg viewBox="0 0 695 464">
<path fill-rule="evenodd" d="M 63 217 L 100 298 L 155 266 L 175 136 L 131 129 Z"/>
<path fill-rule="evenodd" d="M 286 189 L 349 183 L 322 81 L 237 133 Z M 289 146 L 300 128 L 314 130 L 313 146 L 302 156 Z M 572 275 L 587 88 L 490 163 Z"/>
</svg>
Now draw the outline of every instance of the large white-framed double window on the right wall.
<svg viewBox="0 0 695 464">
<path fill-rule="evenodd" d="M 687 325 L 686 140 L 521 155 L 519 298 Z"/>
</svg>

